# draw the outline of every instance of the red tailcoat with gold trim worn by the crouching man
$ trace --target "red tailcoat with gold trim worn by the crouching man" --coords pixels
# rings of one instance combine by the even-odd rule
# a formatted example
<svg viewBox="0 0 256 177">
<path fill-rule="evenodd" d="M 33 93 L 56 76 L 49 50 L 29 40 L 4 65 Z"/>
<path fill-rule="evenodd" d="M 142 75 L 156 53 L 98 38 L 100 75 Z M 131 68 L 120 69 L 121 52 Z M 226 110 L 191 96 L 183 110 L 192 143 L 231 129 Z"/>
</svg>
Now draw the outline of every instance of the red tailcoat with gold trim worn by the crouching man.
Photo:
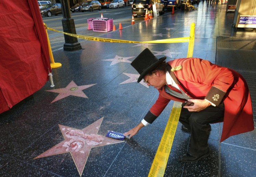
<svg viewBox="0 0 256 177">
<path fill-rule="evenodd" d="M 171 68 L 182 66 L 181 70 L 170 72 L 175 83 L 192 99 L 207 99 L 218 105 L 225 105 L 221 142 L 232 135 L 254 129 L 252 103 L 245 79 L 236 71 L 212 64 L 199 58 L 180 58 L 169 61 Z M 159 116 L 170 100 L 184 102 L 159 89 L 159 97 L 150 112 Z"/>
</svg>

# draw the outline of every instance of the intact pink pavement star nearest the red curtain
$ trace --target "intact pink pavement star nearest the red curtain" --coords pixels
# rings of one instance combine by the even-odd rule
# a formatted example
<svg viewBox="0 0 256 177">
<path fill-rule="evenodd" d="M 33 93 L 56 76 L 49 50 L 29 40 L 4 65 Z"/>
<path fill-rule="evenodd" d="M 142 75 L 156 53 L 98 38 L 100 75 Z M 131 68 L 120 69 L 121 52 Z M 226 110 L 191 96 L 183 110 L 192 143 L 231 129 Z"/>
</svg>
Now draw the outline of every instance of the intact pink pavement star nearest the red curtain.
<svg viewBox="0 0 256 177">
<path fill-rule="evenodd" d="M 86 94 L 84 94 L 83 90 L 87 89 L 91 86 L 94 86 L 94 85 L 96 85 L 96 84 L 77 86 L 75 84 L 75 82 L 72 80 L 65 88 L 45 90 L 45 91 L 59 93 L 58 96 L 51 102 L 51 103 L 53 103 L 55 101 L 66 98 L 69 95 L 76 96 L 76 97 L 82 97 L 82 98 L 88 98 L 86 96 Z"/>
</svg>

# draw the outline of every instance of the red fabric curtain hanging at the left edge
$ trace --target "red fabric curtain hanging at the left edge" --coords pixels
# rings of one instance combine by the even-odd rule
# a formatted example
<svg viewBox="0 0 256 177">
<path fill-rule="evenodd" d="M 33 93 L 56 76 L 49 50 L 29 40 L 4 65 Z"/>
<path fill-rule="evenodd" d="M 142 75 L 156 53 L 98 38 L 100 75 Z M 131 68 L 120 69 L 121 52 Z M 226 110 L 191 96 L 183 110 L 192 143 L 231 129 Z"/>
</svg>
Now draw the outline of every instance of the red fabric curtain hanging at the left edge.
<svg viewBox="0 0 256 177">
<path fill-rule="evenodd" d="M 38 91 L 51 72 L 36 0 L 0 1 L 0 113 Z"/>
</svg>

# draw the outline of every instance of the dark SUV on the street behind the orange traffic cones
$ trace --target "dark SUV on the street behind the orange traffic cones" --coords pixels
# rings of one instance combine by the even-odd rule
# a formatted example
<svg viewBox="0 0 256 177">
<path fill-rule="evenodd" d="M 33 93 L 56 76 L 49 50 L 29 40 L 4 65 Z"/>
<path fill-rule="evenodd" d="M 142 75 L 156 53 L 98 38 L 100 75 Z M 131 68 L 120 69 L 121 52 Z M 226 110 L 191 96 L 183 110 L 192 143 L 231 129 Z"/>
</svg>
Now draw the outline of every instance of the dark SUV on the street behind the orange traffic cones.
<svg viewBox="0 0 256 177">
<path fill-rule="evenodd" d="M 153 10 L 153 7 L 152 7 L 153 4 L 154 4 L 154 0 L 133 0 L 133 3 L 131 5 L 131 12 L 134 17 L 138 17 L 138 15 L 145 16 L 146 9 L 148 11 Z M 163 8 L 163 4 L 160 3 L 160 1 L 157 4 L 158 4 L 159 14 L 164 14 L 165 9 Z"/>
</svg>

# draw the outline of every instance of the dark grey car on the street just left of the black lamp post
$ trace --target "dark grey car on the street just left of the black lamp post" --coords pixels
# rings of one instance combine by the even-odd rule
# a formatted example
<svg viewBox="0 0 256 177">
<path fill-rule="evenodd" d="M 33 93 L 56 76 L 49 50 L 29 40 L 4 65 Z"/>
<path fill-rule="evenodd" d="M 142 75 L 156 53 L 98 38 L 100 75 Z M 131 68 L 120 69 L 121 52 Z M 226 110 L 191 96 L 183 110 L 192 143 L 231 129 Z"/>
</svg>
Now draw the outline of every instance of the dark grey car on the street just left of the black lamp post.
<svg viewBox="0 0 256 177">
<path fill-rule="evenodd" d="M 51 17 L 52 15 L 62 14 L 61 4 L 60 3 L 52 3 L 52 4 L 44 5 L 40 9 L 40 12 L 41 12 L 41 15 L 46 15 L 48 17 Z"/>
</svg>

